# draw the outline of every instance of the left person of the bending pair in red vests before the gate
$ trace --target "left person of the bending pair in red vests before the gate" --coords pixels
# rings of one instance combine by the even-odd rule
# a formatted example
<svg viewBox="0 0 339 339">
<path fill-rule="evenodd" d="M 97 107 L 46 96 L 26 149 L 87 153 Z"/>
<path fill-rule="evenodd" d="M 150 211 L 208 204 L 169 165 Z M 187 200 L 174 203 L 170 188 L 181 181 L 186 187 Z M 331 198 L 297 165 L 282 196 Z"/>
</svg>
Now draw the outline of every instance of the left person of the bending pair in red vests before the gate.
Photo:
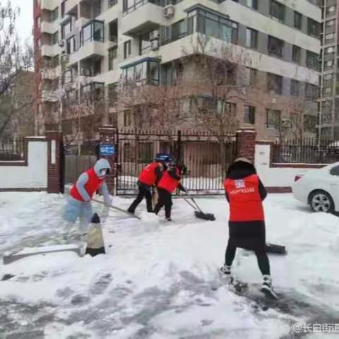
<svg viewBox="0 0 339 339">
<path fill-rule="evenodd" d="M 159 182 L 166 167 L 165 161 L 155 159 L 153 162 L 143 168 L 137 182 L 138 196 L 136 196 L 133 203 L 131 203 L 131 206 L 129 206 L 127 210 L 129 213 L 135 213 L 136 208 L 138 207 L 139 203 L 143 201 L 143 198 L 146 199 L 148 213 L 153 213 L 151 189 L 152 186 Z"/>
</svg>

